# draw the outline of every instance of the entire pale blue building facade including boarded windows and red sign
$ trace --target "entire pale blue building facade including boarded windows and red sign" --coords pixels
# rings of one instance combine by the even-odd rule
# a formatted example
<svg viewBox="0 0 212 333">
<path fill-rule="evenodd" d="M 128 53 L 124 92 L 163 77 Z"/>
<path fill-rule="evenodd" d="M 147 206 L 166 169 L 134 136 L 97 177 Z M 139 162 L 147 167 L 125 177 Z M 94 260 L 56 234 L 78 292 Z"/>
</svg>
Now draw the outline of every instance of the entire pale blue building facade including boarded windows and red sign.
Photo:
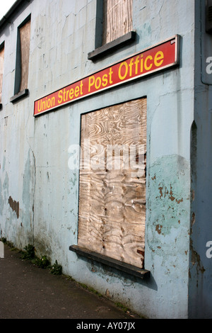
<svg viewBox="0 0 212 333">
<path fill-rule="evenodd" d="M 17 0 L 0 228 L 149 318 L 212 317 L 210 1 Z"/>
</svg>

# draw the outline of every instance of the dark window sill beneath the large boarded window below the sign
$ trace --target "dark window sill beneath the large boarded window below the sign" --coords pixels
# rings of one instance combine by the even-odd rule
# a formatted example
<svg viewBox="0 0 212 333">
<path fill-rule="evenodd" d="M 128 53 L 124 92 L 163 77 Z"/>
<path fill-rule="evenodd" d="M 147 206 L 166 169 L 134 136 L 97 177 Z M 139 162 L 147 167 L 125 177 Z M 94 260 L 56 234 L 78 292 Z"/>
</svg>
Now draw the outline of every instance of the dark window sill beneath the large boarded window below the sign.
<svg viewBox="0 0 212 333">
<path fill-rule="evenodd" d="M 103 256 L 102 254 L 98 254 L 96 252 L 92 252 L 83 247 L 78 247 L 78 245 L 71 245 L 69 250 L 72 252 L 76 252 L 76 254 L 80 256 L 86 256 L 86 258 L 95 260 L 100 262 L 101 264 L 105 264 L 107 266 L 112 267 L 113 269 L 117 269 L 119 271 L 123 271 L 124 273 L 128 273 L 131 276 L 136 276 L 137 278 L 149 278 L 150 271 L 146 271 L 146 269 L 139 269 L 139 267 L 126 264 L 117 259 L 109 258 L 108 256 Z"/>
</svg>

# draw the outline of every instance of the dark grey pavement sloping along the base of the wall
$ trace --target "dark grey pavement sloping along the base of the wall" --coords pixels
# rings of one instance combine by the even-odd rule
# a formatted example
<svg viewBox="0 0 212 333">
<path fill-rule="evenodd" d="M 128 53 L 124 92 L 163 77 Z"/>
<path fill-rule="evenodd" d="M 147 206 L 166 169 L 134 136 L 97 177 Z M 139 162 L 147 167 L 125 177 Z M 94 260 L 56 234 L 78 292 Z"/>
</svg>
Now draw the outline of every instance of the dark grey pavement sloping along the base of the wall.
<svg viewBox="0 0 212 333">
<path fill-rule="evenodd" d="M 4 245 L 0 259 L 0 319 L 139 319 L 66 276 L 54 276 Z"/>
</svg>

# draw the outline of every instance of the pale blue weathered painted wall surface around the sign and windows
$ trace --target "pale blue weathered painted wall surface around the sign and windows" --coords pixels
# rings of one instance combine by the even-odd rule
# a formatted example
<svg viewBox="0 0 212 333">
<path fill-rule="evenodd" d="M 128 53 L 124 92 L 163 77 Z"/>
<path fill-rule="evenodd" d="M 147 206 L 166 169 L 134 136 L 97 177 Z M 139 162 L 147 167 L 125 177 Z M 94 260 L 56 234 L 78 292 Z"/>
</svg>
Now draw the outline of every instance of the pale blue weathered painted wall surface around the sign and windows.
<svg viewBox="0 0 212 333">
<path fill-rule="evenodd" d="M 0 113 L 1 236 L 34 242 L 64 273 L 153 318 L 188 316 L 190 130 L 194 120 L 194 1 L 134 0 L 136 43 L 97 62 L 95 0 L 31 1 L 0 36 L 5 44 Z M 16 29 L 31 13 L 30 95 L 11 104 Z M 178 68 L 90 96 L 33 117 L 33 102 L 102 67 L 179 34 Z M 69 251 L 77 244 L 78 170 L 69 146 L 79 145 L 82 113 L 147 96 L 146 256 L 148 281 L 129 278 Z M 17 212 L 8 203 L 19 203 Z M 12 201 L 10 201 L 12 203 Z M 15 205 L 16 206 L 16 205 Z M 83 272 L 83 274 L 82 274 Z"/>
</svg>

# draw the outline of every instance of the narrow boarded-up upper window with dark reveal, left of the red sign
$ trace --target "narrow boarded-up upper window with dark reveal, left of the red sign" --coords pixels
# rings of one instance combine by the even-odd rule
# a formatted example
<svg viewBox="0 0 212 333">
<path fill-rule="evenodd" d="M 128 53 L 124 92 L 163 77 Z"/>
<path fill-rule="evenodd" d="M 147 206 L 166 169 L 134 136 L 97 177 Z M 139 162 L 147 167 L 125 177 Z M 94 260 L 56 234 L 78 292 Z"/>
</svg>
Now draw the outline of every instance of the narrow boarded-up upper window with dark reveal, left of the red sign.
<svg viewBox="0 0 212 333">
<path fill-rule="evenodd" d="M 28 88 L 30 19 L 18 28 L 15 94 Z"/>
</svg>

